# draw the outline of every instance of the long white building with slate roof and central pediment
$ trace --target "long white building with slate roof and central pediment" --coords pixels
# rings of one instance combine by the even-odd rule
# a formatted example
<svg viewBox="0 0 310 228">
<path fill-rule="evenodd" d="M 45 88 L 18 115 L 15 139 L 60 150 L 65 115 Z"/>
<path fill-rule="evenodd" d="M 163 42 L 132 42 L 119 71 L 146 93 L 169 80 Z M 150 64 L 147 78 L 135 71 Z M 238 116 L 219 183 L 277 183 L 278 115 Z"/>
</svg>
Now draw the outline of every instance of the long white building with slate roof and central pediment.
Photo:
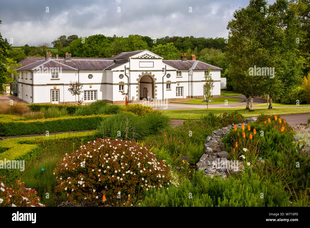
<svg viewBox="0 0 310 228">
<path fill-rule="evenodd" d="M 69 104 L 75 96 L 68 91 L 70 81 L 82 83 L 77 101 L 85 103 L 107 100 L 138 103 L 143 98 L 166 99 L 203 98 L 206 71 L 211 67 L 214 81 L 213 97 L 220 96 L 220 71 L 215 67 L 181 56 L 181 60 L 163 60 L 148 50 L 123 52 L 110 58 L 28 57 L 20 62 L 18 97 L 28 103 Z M 126 69 L 126 72 L 125 72 Z M 123 92 L 123 93 L 122 93 Z"/>
</svg>

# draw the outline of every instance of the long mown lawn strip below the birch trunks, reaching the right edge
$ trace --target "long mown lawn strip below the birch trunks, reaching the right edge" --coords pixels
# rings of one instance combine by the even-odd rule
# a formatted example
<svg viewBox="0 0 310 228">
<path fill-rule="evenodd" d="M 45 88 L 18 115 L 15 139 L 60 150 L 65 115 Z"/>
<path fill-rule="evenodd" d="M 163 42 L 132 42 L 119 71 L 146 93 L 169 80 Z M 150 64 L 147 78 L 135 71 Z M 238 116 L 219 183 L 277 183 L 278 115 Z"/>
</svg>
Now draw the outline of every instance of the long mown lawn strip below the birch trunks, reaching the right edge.
<svg viewBox="0 0 310 228">
<path fill-rule="evenodd" d="M 285 115 L 285 114 L 298 114 L 298 113 L 310 113 L 310 108 L 277 108 L 277 109 L 254 109 L 254 112 L 249 112 L 245 109 L 188 109 L 188 110 L 163 110 L 162 112 L 172 119 L 199 119 L 202 114 L 213 112 L 217 115 L 223 114 L 224 112 L 230 113 L 238 111 L 244 117 L 259 116 L 259 114 L 270 114 L 270 115 Z"/>
</svg>

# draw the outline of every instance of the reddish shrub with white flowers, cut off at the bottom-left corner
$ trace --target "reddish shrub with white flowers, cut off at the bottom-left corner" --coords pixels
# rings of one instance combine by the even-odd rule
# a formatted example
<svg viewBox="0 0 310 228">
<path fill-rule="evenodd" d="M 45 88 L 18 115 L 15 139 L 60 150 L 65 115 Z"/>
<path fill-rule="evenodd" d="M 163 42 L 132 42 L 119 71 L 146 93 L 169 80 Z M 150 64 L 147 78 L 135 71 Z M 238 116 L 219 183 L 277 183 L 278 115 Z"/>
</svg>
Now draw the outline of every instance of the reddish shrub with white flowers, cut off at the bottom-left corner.
<svg viewBox="0 0 310 228">
<path fill-rule="evenodd" d="M 0 206 L 2 207 L 45 207 L 40 203 L 34 189 L 25 188 L 24 183 L 16 181 L 16 186 L 8 188 L 4 184 L 5 177 L 0 177 Z"/>
</svg>

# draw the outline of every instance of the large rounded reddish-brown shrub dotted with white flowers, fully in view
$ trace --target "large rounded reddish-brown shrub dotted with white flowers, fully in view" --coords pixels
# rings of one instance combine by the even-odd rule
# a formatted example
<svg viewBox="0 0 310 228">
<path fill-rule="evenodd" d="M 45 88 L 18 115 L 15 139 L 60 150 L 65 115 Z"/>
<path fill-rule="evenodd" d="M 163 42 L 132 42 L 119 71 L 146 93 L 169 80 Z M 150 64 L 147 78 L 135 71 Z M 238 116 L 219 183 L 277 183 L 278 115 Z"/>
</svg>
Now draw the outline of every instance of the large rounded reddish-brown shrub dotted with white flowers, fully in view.
<svg viewBox="0 0 310 228">
<path fill-rule="evenodd" d="M 150 188 L 169 185 L 169 167 L 157 161 L 150 147 L 131 141 L 97 139 L 82 145 L 56 165 L 56 191 L 69 200 L 127 197 Z"/>
</svg>

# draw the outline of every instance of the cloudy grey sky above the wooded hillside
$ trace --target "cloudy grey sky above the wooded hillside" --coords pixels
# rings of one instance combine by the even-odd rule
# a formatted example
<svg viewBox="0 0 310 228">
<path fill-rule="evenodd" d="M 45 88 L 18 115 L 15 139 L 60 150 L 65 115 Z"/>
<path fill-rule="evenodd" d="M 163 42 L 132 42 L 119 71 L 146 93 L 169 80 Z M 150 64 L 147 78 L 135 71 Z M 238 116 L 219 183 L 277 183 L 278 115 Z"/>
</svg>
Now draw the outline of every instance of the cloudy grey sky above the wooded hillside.
<svg viewBox="0 0 310 228">
<path fill-rule="evenodd" d="M 248 0 L 0 0 L 0 32 L 12 46 L 51 43 L 60 35 L 224 37 Z M 269 0 L 269 3 L 275 0 Z M 46 12 L 49 7 L 49 12 Z M 189 12 L 192 8 L 192 12 Z M 120 12 L 118 12 L 120 11 Z"/>
</svg>

